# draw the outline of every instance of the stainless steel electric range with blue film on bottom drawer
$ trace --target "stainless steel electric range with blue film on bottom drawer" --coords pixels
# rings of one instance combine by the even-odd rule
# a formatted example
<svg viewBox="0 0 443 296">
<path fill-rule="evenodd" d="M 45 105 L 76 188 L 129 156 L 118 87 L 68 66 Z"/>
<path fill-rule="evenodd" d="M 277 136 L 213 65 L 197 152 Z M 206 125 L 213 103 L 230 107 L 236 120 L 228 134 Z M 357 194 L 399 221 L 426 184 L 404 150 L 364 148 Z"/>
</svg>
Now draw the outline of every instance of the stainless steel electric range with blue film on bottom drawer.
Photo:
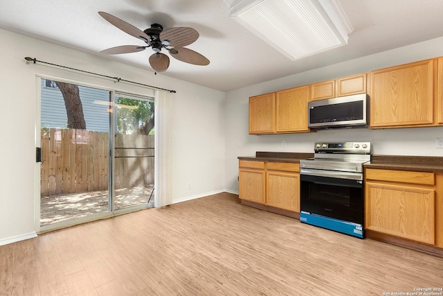
<svg viewBox="0 0 443 296">
<path fill-rule="evenodd" d="M 363 238 L 363 164 L 369 142 L 315 143 L 300 160 L 300 221 Z"/>
</svg>

